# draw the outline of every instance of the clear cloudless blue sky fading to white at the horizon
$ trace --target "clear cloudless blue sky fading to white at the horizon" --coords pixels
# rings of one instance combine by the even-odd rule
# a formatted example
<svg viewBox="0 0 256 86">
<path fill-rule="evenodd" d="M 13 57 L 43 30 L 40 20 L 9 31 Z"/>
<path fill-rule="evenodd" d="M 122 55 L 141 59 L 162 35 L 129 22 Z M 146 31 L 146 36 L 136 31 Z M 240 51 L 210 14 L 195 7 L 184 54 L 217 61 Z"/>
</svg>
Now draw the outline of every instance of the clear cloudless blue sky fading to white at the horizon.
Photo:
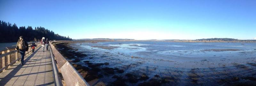
<svg viewBox="0 0 256 86">
<path fill-rule="evenodd" d="M 256 38 L 256 0 L 0 0 L 0 20 L 73 39 Z"/>
</svg>

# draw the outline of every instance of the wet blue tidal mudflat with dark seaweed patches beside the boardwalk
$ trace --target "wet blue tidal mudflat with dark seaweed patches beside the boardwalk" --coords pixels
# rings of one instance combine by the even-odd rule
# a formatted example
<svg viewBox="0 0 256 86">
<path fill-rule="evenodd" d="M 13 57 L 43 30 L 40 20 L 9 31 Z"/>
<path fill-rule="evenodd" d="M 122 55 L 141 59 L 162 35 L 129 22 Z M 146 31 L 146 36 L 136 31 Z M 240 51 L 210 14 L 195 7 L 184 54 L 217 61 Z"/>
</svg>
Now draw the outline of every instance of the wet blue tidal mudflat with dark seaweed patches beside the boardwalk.
<svg viewBox="0 0 256 86">
<path fill-rule="evenodd" d="M 61 43 L 92 86 L 256 86 L 256 43 Z"/>
</svg>

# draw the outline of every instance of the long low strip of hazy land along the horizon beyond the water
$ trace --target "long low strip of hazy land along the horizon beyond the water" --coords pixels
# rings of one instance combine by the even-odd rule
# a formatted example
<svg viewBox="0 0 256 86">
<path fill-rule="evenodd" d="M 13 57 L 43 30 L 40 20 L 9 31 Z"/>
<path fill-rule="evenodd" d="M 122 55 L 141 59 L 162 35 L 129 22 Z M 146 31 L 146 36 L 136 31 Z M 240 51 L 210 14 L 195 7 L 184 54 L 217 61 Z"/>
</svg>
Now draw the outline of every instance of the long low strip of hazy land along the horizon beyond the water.
<svg viewBox="0 0 256 86">
<path fill-rule="evenodd" d="M 94 38 L 94 39 L 73 39 L 73 40 L 106 40 L 106 41 L 166 41 L 166 42 L 246 42 L 255 43 L 256 40 L 239 40 L 233 38 L 208 38 L 196 40 L 179 40 L 179 39 L 165 39 L 165 40 L 135 40 L 135 39 L 110 39 L 110 38 Z"/>
</svg>

